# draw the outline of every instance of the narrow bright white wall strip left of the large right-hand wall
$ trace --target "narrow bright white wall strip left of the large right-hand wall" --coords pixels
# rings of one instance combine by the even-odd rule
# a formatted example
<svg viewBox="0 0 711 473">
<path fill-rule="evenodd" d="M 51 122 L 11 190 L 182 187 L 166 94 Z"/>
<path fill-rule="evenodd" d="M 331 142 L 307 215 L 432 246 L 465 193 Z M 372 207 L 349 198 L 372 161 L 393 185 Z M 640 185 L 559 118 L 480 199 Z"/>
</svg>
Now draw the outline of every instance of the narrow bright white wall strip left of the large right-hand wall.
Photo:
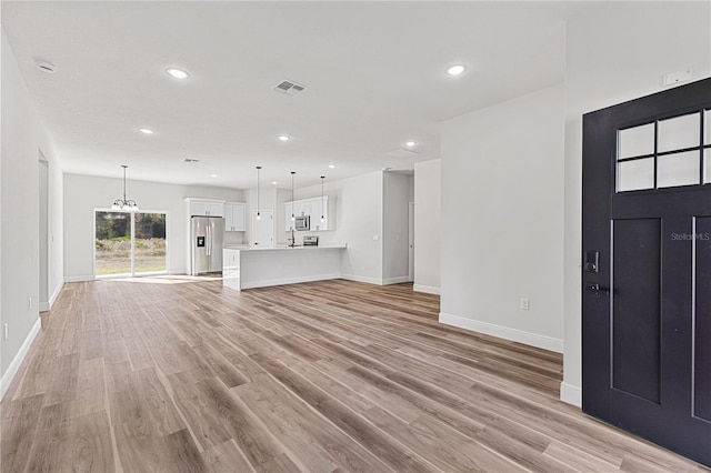
<svg viewBox="0 0 711 473">
<path fill-rule="evenodd" d="M 414 290 L 440 293 L 441 160 L 414 163 Z"/>
</svg>

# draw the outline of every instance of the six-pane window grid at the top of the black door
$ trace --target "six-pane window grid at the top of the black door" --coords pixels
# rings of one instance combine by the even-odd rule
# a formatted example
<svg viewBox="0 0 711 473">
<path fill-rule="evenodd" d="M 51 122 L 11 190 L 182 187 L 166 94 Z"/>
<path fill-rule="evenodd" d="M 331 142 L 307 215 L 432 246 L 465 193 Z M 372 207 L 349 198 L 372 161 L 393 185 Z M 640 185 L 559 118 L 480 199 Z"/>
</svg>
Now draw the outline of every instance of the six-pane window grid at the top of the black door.
<svg viewBox="0 0 711 473">
<path fill-rule="evenodd" d="M 617 192 L 711 183 L 711 110 L 618 130 Z"/>
</svg>

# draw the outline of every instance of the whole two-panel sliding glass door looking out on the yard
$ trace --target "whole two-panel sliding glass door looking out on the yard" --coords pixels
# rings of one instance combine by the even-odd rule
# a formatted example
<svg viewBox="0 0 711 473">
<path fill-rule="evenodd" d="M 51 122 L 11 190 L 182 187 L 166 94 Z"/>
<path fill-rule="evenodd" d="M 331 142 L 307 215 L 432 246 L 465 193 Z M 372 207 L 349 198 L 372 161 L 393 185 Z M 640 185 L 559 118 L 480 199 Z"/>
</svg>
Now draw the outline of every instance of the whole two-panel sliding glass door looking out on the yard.
<svg viewBox="0 0 711 473">
<path fill-rule="evenodd" d="M 97 210 L 94 274 L 132 276 L 168 271 L 166 213 Z"/>
</svg>

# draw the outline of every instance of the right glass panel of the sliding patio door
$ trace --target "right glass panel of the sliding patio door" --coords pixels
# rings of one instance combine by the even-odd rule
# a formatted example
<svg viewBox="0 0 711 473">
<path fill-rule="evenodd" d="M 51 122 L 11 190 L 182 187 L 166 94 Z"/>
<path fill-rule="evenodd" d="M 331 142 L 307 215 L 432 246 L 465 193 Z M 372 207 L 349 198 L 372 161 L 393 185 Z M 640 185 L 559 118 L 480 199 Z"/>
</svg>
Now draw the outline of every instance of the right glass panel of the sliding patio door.
<svg viewBox="0 0 711 473">
<path fill-rule="evenodd" d="M 166 214 L 134 213 L 136 272 L 166 271 Z"/>
</svg>

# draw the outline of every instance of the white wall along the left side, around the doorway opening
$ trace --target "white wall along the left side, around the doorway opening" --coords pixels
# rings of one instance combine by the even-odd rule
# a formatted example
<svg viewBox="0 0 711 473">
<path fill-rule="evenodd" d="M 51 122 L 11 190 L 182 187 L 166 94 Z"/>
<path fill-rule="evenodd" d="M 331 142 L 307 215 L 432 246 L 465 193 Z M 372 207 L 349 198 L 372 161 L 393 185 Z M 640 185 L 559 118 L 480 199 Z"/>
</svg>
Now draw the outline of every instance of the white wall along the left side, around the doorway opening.
<svg viewBox="0 0 711 473">
<path fill-rule="evenodd" d="M 2 282 L 0 328 L 0 394 L 4 393 L 19 361 L 39 329 L 39 153 L 49 161 L 49 293 L 62 279 L 62 184 L 59 158 L 20 76 L 2 30 L 2 162 L 0 168 L 0 258 Z M 32 298 L 32 309 L 28 299 Z"/>
</svg>

